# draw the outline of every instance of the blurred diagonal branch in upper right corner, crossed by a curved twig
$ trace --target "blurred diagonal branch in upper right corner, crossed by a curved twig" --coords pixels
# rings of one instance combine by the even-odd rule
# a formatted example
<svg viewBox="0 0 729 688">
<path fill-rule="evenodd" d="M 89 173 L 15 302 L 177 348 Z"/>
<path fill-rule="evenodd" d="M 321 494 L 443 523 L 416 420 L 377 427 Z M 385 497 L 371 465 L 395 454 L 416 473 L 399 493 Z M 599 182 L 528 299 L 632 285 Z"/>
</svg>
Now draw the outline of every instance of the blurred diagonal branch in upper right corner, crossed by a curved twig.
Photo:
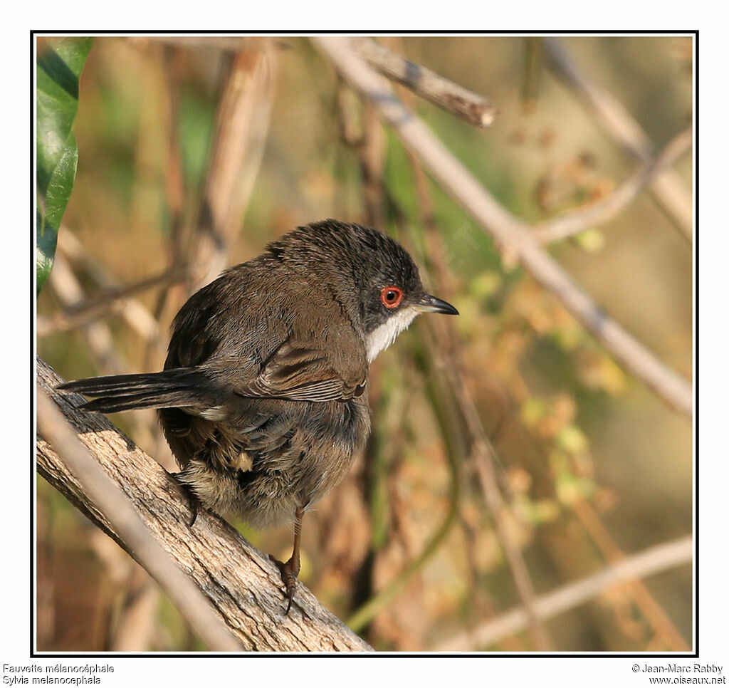
<svg viewBox="0 0 729 688">
<path fill-rule="evenodd" d="M 558 41 L 550 36 L 542 38 L 545 58 L 554 73 L 580 98 L 607 133 L 633 158 L 650 163 L 655 147 L 630 113 L 607 90 L 591 82 L 569 57 Z M 679 174 L 663 170 L 649 187 L 659 206 L 674 220 L 686 239 L 693 239 L 693 201 Z"/>
</svg>

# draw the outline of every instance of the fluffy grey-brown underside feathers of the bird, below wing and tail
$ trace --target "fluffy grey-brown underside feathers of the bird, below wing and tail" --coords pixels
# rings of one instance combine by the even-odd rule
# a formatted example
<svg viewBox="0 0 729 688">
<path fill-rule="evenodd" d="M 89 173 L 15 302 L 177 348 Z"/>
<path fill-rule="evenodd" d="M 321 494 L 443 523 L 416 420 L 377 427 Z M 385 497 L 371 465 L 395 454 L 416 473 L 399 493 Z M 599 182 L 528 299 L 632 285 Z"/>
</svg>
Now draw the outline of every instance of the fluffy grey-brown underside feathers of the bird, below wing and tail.
<svg viewBox="0 0 729 688">
<path fill-rule="evenodd" d="M 217 422 L 216 432 L 187 462 L 178 457 L 179 481 L 207 509 L 235 514 L 258 528 L 290 521 L 297 509 L 311 507 L 343 480 L 364 449 L 370 430 L 367 395 L 287 406 L 277 414 L 258 408 L 258 424 L 235 417 L 227 426 L 249 428 L 245 434 Z M 203 418 L 195 422 L 210 425 Z M 196 434 L 205 433 L 196 428 Z"/>
</svg>

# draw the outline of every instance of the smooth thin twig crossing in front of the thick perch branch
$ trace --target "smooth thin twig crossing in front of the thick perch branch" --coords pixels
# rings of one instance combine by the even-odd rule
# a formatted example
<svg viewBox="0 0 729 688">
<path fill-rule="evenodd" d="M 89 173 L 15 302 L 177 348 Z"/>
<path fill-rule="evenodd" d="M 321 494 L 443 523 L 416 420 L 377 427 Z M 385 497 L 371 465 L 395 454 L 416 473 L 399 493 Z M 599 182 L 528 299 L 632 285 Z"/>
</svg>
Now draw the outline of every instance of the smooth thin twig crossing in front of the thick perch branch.
<svg viewBox="0 0 729 688">
<path fill-rule="evenodd" d="M 58 406 L 50 400 L 41 387 L 38 387 L 36 402 L 41 436 L 63 457 L 90 499 L 104 513 L 114 531 L 163 587 L 203 642 L 211 650 L 224 652 L 241 650 L 240 643 L 225 630 L 219 617 L 213 613 L 208 600 L 172 563 L 168 554 L 141 522 L 128 499 L 93 460 L 58 410 Z"/>
</svg>

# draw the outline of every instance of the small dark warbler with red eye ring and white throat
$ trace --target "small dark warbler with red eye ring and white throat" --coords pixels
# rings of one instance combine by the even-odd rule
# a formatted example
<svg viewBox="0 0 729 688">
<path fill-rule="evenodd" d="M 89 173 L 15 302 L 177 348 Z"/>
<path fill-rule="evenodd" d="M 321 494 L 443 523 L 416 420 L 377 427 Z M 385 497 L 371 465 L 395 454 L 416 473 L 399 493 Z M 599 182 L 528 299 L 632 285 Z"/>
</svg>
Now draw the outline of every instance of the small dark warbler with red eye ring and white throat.
<svg viewBox="0 0 729 688">
<path fill-rule="evenodd" d="M 197 504 L 253 527 L 294 520 L 278 563 L 289 600 L 301 523 L 346 476 L 370 433 L 369 365 L 422 312 L 458 311 L 424 291 L 408 252 L 361 225 L 324 220 L 268 244 L 193 294 L 164 370 L 59 389 L 102 413 L 158 409 Z"/>
</svg>

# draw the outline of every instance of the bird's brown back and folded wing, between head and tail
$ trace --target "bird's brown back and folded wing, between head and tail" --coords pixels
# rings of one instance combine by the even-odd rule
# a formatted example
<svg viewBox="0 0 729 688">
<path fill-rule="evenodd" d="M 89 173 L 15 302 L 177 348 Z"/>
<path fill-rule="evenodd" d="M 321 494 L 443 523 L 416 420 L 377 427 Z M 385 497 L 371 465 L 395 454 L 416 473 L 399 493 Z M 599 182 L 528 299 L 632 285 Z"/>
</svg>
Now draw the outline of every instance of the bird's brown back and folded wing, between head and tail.
<svg viewBox="0 0 729 688">
<path fill-rule="evenodd" d="M 221 393 L 241 397 L 325 402 L 361 395 L 367 355 L 338 301 L 288 272 L 276 279 L 275 295 L 246 288 L 256 279 L 272 282 L 277 265 L 259 260 L 192 295 L 175 318 L 165 368 L 195 367 Z M 268 356 L 263 363 L 261 355 Z"/>
</svg>

